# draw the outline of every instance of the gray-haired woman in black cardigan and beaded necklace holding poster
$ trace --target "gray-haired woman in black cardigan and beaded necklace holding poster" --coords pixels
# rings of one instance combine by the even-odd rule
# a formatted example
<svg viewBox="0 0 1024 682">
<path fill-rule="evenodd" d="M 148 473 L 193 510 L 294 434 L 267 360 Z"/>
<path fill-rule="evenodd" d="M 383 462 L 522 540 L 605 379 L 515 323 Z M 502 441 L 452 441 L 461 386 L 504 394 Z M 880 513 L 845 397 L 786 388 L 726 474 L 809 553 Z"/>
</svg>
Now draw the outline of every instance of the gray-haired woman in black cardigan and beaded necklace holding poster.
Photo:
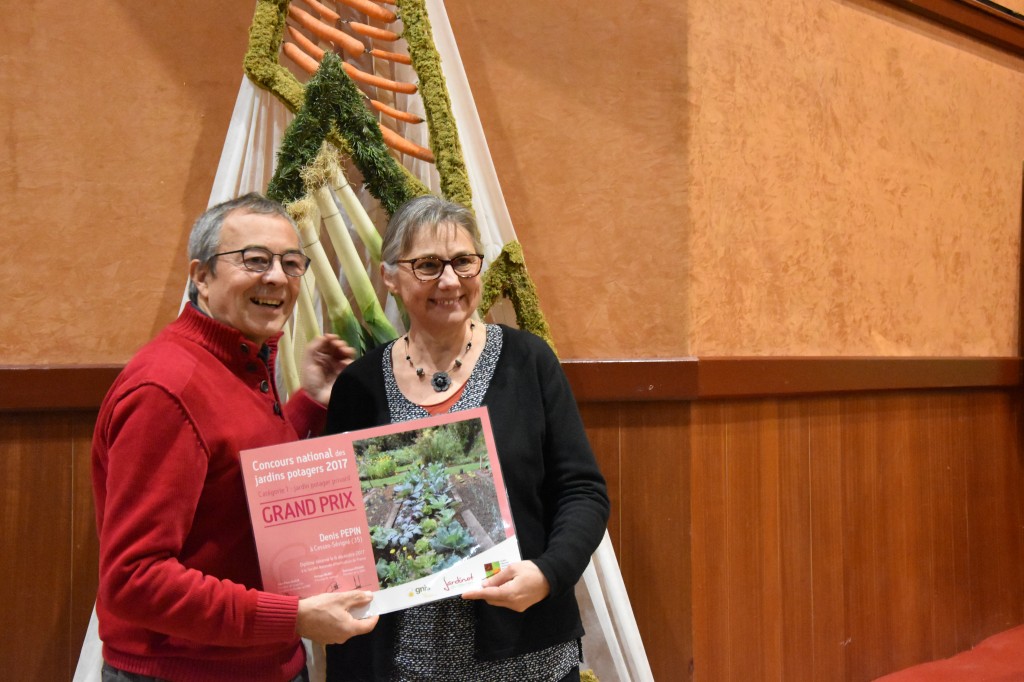
<svg viewBox="0 0 1024 682">
<path fill-rule="evenodd" d="M 538 337 L 474 319 L 482 249 L 465 208 L 421 197 L 392 216 L 381 273 L 409 333 L 339 376 L 328 432 L 487 407 L 523 561 L 462 598 L 383 615 L 329 646 L 341 680 L 579 680 L 573 588 L 608 497 L 557 358 Z"/>
</svg>

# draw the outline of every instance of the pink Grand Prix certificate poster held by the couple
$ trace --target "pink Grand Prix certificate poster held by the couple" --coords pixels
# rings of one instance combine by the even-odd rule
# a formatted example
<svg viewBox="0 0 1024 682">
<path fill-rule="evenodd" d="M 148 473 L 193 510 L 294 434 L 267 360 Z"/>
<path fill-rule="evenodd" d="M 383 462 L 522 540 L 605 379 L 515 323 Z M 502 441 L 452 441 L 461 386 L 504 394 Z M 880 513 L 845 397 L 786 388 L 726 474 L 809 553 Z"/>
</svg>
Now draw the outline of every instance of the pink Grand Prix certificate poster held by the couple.
<svg viewBox="0 0 1024 682">
<path fill-rule="evenodd" d="M 387 613 L 478 587 L 520 558 L 486 408 L 241 460 L 267 591 L 371 590 L 365 613 Z"/>
</svg>

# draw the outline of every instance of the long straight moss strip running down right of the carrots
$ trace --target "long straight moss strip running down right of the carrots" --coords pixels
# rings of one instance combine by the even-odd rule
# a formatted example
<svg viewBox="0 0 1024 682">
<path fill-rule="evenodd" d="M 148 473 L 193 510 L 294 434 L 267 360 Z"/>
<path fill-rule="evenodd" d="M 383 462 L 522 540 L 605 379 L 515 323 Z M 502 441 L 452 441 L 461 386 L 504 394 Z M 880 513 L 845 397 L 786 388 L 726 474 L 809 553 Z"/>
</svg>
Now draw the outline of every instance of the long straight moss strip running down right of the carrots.
<svg viewBox="0 0 1024 682">
<path fill-rule="evenodd" d="M 469 174 L 463 161 L 459 130 L 452 113 L 452 99 L 444 82 L 444 72 L 441 71 L 441 58 L 434 45 L 426 5 L 423 0 L 397 2 L 404 26 L 401 37 L 409 45 L 413 70 L 420 79 L 420 96 L 427 116 L 430 150 L 436 160 L 441 194 L 450 201 L 472 207 L 473 193 L 469 185 Z"/>
</svg>

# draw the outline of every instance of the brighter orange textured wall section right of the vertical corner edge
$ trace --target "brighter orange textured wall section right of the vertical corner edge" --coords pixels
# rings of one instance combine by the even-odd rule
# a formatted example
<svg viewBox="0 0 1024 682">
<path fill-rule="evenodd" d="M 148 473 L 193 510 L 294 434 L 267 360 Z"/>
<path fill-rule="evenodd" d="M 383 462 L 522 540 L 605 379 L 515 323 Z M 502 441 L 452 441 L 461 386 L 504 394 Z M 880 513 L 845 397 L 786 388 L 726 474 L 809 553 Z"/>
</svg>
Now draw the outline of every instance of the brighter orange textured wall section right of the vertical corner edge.
<svg viewBox="0 0 1024 682">
<path fill-rule="evenodd" d="M 878 3 L 688 6 L 691 351 L 1015 354 L 1024 60 Z"/>
</svg>

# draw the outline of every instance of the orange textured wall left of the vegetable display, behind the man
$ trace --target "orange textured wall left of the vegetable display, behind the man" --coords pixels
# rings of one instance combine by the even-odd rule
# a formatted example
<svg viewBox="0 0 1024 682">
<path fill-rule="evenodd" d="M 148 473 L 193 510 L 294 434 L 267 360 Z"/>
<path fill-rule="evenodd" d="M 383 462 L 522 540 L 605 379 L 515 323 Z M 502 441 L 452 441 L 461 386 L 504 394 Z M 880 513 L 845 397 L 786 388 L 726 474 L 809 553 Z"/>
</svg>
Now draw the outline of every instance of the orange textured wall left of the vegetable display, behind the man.
<svg viewBox="0 0 1024 682">
<path fill-rule="evenodd" d="M 250 3 L 34 2 L 0 42 L 0 365 L 123 363 L 174 317 Z"/>
</svg>

